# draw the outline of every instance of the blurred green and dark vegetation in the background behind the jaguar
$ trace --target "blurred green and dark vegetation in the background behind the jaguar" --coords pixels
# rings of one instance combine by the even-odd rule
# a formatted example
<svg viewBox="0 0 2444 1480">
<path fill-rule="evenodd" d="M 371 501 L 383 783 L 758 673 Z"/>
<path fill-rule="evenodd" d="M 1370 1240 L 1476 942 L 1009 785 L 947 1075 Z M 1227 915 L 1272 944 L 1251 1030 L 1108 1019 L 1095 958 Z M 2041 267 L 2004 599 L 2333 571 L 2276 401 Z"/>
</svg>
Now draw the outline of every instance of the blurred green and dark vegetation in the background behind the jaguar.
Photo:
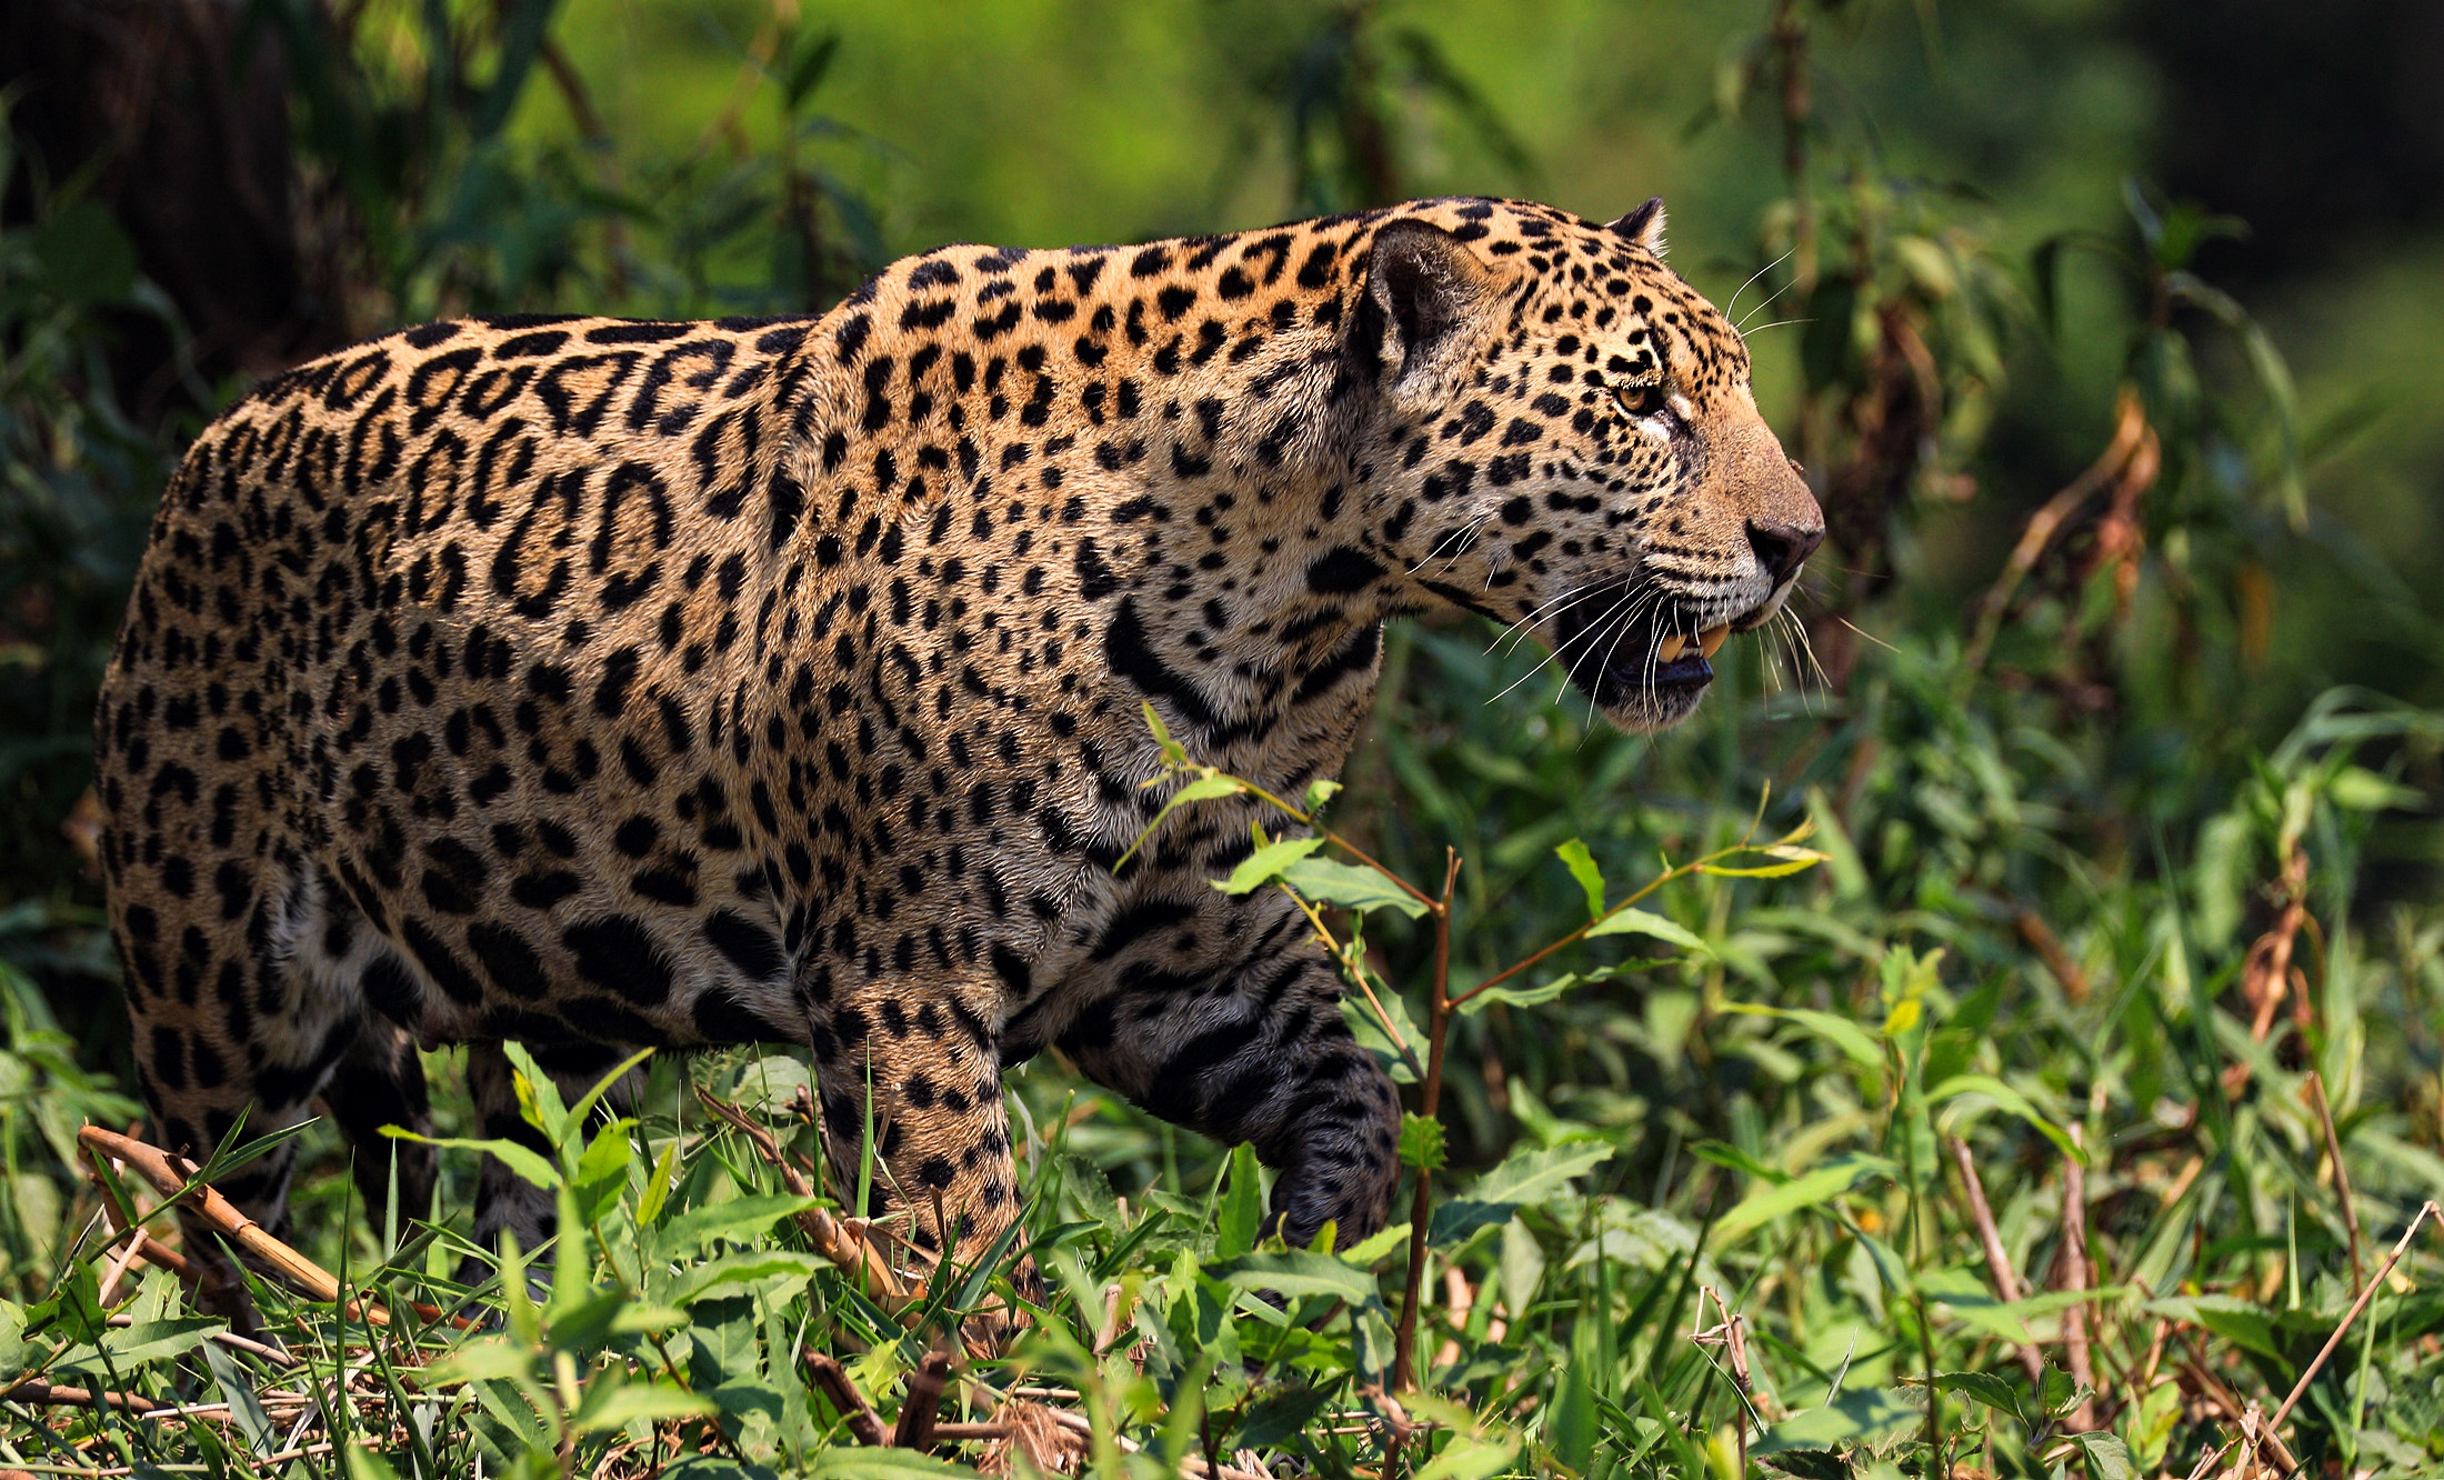
<svg viewBox="0 0 2444 1480">
<path fill-rule="evenodd" d="M 2283 1223 L 2329 1172 L 2270 1079 L 2324 1067 L 2361 1191 L 2444 1174 L 2437 76 L 2444 10 L 2390 0 L 12 5 L 0 1093 L 54 1150 L 130 1116 L 86 722 L 166 470 L 249 379 L 447 313 L 819 311 L 948 240 L 1662 193 L 1833 521 L 1813 651 L 1733 646 L 1691 727 L 1628 739 L 1552 675 L 1498 697 L 1537 656 L 1491 631 L 1403 629 L 1334 817 L 1420 881 L 1466 854 L 1462 981 L 1567 930 L 1569 837 L 1642 878 L 1772 783 L 1835 866 L 1681 900 L 1711 966 L 1464 1023 L 1459 1162 L 1593 1128 L 1611 1191 L 1694 1218 L 1718 1162 L 1684 1145 L 1772 1157 L 1840 1098 L 1730 1001 L 1860 1013 L 1889 947 L 1948 947 L 1970 1057 L 2087 1120 L 2121 1191 L 2173 1184 L 2104 1213 L 2124 1272 L 2278 1289 L 2268 1248 L 2334 1265 L 2341 1233 Z M 2292 903 L 2317 961 L 2263 979 Z M 1415 986 L 1418 942 L 1381 949 Z M 2280 1133 L 2234 1120 L 2258 1093 Z M 1987 1135 L 2038 1267 L 2053 1152 Z M 1124 1189 L 1215 1164 L 1110 1106 L 1080 1138 Z M 2212 1208 L 2192 1145 L 2305 1182 L 2234 1169 Z M 2158 1260 L 2175 1213 L 2236 1243 Z"/>
</svg>

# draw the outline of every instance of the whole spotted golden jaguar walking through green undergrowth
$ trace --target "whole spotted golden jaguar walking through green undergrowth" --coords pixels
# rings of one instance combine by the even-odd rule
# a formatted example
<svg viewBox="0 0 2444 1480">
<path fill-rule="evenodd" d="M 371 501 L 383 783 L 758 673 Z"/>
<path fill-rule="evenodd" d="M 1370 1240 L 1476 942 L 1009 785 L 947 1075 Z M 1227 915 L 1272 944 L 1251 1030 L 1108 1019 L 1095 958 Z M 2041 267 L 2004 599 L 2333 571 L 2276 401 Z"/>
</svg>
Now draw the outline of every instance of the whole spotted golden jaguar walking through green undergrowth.
<svg viewBox="0 0 2444 1480">
<path fill-rule="evenodd" d="M 1002 1074 L 1058 1047 L 1381 1226 L 1398 1103 L 1278 893 L 1163 800 L 1151 702 L 1276 793 L 1332 775 L 1386 616 L 1525 624 L 1625 727 L 1821 533 L 1738 333 L 1596 225 L 1425 201 L 1141 247 L 943 247 L 821 318 L 430 323 L 188 453 L 98 717 L 156 1133 L 320 1096 L 374 1206 L 415 1047 L 569 1084 L 802 1045 L 875 1211 L 1012 1218 Z M 403 1206 L 428 1152 L 398 1147 Z M 227 1191 L 276 1226 L 288 1152 Z M 853 1184 L 853 1179 L 843 1179 Z M 479 1230 L 547 1233 L 486 1177 Z M 938 1199 L 936 1199 L 938 1194 Z"/>
</svg>

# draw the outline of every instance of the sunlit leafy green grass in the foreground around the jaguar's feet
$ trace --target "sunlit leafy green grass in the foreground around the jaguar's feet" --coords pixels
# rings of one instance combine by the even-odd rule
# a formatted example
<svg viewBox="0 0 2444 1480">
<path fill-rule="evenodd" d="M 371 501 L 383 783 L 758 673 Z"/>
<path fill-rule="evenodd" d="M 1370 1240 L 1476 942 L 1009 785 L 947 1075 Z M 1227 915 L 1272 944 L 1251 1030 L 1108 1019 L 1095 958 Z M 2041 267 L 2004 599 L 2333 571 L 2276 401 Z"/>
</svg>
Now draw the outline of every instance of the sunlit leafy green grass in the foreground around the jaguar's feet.
<svg viewBox="0 0 2444 1480">
<path fill-rule="evenodd" d="M 1442 641 L 1410 660 L 1432 663 Z M 1542 714 L 1569 724 L 1567 709 Z M 1014 1089 L 1044 1301 L 1004 1355 L 963 1353 L 960 1321 L 1017 1299 L 1022 1250 L 975 1270 L 907 1270 L 926 1294 L 877 1301 L 792 1218 L 846 1201 L 821 1189 L 804 1069 L 738 1054 L 653 1064 L 643 1111 L 613 1123 L 572 1116 L 530 1079 L 533 1118 L 560 1145 L 530 1169 L 560 1186 L 572 1233 L 511 1252 L 477 1289 L 447 1279 L 467 1250 L 472 1155 L 452 1155 L 437 1223 L 367 1218 L 347 1206 L 337 1157 L 310 1157 L 306 1252 L 389 1309 L 474 1316 L 464 1333 L 374 1328 L 264 1284 L 257 1299 L 291 1353 L 274 1363 L 227 1345 L 159 1270 L 98 1301 L 112 1260 L 95 1194 L 51 1167 L 68 1206 L 46 1230 L 17 1233 L 5 1380 L 227 1409 L 12 1402 L 0 1460 L 349 1478 L 887 1473 L 802 1353 L 843 1363 L 890 1429 L 924 1355 L 960 1350 L 941 1424 L 1007 1419 L 1026 1394 L 1078 1414 L 1075 1456 L 1114 1475 L 1173 1473 L 1207 1451 L 1227 1465 L 1254 1451 L 1273 1473 L 1374 1475 L 1396 1436 L 1413 1475 L 1735 1475 L 1743 1451 L 1794 1475 L 1960 1463 L 2187 1475 L 2241 1434 L 2217 1404 L 2280 1407 L 2344 1326 L 2354 1267 L 2373 1275 L 2444 1186 L 2432 1067 L 2444 927 L 2405 915 L 2358 930 L 2346 908 L 2354 844 L 2400 800 L 2354 751 L 2402 731 L 2437 727 L 2319 707 L 2197 837 L 2158 839 L 2168 859 L 2195 859 L 2187 868 L 2085 878 L 2090 910 L 2053 927 L 2043 952 L 1958 893 L 1889 910 L 1821 790 L 1765 807 L 1809 837 L 1686 866 L 1635 915 L 1618 912 L 1633 890 L 1603 883 L 1601 839 L 1520 859 L 1506 883 L 1549 886 L 1518 900 L 1549 910 L 1549 934 L 1567 934 L 1571 912 L 1584 925 L 1598 900 L 1633 930 L 1564 947 L 1447 1020 L 1454 1091 L 1471 1086 L 1454 1098 L 1503 1111 L 1454 1106 L 1442 1135 L 1418 1123 L 1405 1138 L 1413 1164 L 1457 1155 L 1425 1204 L 1410 1382 L 1398 1341 L 1408 1226 L 1352 1250 L 1264 1245 L 1251 1157 L 1156 1128 L 1058 1069 L 1029 1069 Z M 1562 739 L 1574 766 L 1623 744 Z M 1735 846 L 1752 812 L 1689 812 L 1667 837 L 1684 856 Z M 1352 797 L 1334 815 L 1371 817 Z M 2248 895 L 2283 876 L 2266 861 L 2292 846 L 2327 859 L 2292 934 L 2307 996 L 2297 1013 L 2278 1003 L 2256 1040 L 2241 979 L 2263 932 L 2241 920 Z M 1405 964 L 1432 917 L 1334 908 L 1366 898 L 1364 868 L 1315 871 L 1330 849 L 1290 854 L 1271 851 L 1232 886 L 1288 881 L 1344 944 L 1352 927 L 1381 934 L 1371 954 L 1344 949 L 1381 964 L 1369 986 L 1383 1013 L 1352 993 L 1352 1015 L 1415 1079 L 1437 1015 L 1430 974 Z M 2261 910 L 2275 934 L 2278 905 Z M 1464 903 L 1452 917 L 1452 996 L 1464 996 L 1496 976 L 1476 961 L 1503 947 Z M 1520 927 L 1513 912 L 1503 922 Z M 15 976 L 12 996 L 34 1001 Z M 1528 1040 L 1535 1052 L 1520 1052 Z M 12 1054 L 7 1069 L 24 1096 L 12 1108 L 100 1093 L 59 1059 Z M 2327 1086 L 2356 1230 L 2310 1071 Z M 711 1120 L 694 1086 L 765 1125 L 819 1194 L 792 1196 L 782 1167 Z M 2077 1279 L 2063 1267 L 2075 1138 Z M 2019 1299 L 2004 1299 L 1982 1250 L 1955 1147 L 1977 1169 Z M 2444 1458 L 2439 1252 L 2444 1240 L 2412 1240 L 2305 1385 L 2280 1438 L 2312 1470 L 2415 1475 Z M 2065 1370 L 2073 1311 L 2092 1392 Z M 2043 1360 L 2033 1382 L 2024 1348 Z M 938 1453 L 982 1458 L 975 1441 Z M 909 1473 L 929 1463 L 890 1458 Z"/>
</svg>

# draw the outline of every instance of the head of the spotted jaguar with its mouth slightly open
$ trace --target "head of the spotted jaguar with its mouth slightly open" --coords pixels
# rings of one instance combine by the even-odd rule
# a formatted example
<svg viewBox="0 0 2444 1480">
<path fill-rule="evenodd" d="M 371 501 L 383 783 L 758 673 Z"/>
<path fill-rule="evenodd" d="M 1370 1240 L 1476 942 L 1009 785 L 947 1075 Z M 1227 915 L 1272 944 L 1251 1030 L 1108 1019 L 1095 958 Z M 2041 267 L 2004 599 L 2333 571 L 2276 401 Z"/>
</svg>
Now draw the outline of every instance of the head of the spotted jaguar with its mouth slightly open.
<svg viewBox="0 0 2444 1480">
<path fill-rule="evenodd" d="M 1826 528 L 1740 333 L 1664 267 L 1662 230 L 1662 201 L 1608 225 L 1435 203 L 1374 235 L 1359 318 L 1388 555 L 1542 638 L 1633 731 L 1696 709 Z"/>
</svg>

